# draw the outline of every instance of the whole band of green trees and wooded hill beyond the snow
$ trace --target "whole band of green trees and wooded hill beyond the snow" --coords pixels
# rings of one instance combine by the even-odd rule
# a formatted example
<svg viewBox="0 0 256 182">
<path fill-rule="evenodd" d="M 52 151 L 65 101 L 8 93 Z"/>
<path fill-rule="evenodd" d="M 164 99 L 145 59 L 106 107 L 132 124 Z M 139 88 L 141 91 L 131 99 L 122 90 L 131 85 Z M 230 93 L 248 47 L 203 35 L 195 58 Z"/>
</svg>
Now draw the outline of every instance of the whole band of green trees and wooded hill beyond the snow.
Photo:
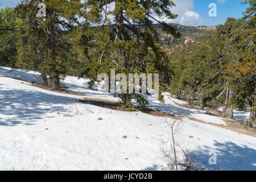
<svg viewBox="0 0 256 182">
<path fill-rule="evenodd" d="M 67 75 L 90 78 L 100 73 L 159 73 L 160 94 L 217 108 L 232 118 L 233 109 L 250 110 L 255 122 L 255 1 L 243 18 L 228 18 L 217 27 L 189 27 L 154 19 L 175 19 L 168 1 L 137 4 L 108 1 L 46 1 L 47 17 L 37 16 L 39 1 L 24 0 L 0 11 L 0 65 L 38 71 L 45 86 L 61 90 Z M 61 4 L 61 6 L 59 5 Z M 58 5 L 58 6 L 56 6 Z M 169 4 L 168 4 L 169 5 Z M 170 4 L 174 6 L 173 3 Z M 106 7 L 103 9 L 102 7 Z M 115 18 L 110 21 L 105 12 Z M 81 22 L 81 19 L 84 20 Z M 98 26 L 95 26 L 98 24 Z M 142 94 L 118 94 L 126 107 Z"/>
</svg>

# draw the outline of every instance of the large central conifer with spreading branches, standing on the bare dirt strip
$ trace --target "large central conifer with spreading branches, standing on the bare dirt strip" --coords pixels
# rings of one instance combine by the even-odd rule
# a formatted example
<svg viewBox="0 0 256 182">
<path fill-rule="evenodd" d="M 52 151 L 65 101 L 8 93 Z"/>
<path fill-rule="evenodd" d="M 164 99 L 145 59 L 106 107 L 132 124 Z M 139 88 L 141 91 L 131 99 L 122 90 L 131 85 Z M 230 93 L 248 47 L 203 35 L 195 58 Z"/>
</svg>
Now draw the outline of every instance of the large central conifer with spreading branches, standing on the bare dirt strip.
<svg viewBox="0 0 256 182">
<path fill-rule="evenodd" d="M 114 6 L 110 10 L 110 4 Z M 112 6 L 111 5 L 111 6 Z M 168 75 L 168 57 L 160 47 L 159 35 L 152 26 L 159 23 L 162 29 L 175 37 L 180 36 L 161 18 L 175 19 L 170 8 L 174 2 L 168 0 L 102 0 L 86 1 L 88 16 L 97 17 L 94 28 L 92 52 L 89 55 L 90 75 L 109 73 L 111 68 L 116 73 L 160 73 L 160 79 Z M 114 23 L 111 24 L 112 15 Z M 92 16 L 89 16 L 92 17 Z M 108 26 L 107 26 L 108 25 Z M 141 100 L 141 94 L 120 94 L 119 97 L 130 105 L 131 98 Z M 143 100 L 145 101 L 145 100 Z"/>
</svg>

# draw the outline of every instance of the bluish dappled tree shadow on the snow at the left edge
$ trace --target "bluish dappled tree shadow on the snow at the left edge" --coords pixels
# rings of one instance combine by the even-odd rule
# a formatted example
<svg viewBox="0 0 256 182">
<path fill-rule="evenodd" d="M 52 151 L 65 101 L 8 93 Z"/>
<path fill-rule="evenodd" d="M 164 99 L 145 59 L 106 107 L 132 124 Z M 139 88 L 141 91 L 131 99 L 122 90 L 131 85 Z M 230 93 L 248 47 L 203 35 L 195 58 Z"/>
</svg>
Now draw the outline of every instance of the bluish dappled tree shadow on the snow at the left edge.
<svg viewBox="0 0 256 182">
<path fill-rule="evenodd" d="M 0 126 L 32 125 L 46 114 L 65 111 L 62 106 L 72 105 L 73 98 L 56 96 L 34 90 L 13 89 L 0 84 Z"/>
</svg>

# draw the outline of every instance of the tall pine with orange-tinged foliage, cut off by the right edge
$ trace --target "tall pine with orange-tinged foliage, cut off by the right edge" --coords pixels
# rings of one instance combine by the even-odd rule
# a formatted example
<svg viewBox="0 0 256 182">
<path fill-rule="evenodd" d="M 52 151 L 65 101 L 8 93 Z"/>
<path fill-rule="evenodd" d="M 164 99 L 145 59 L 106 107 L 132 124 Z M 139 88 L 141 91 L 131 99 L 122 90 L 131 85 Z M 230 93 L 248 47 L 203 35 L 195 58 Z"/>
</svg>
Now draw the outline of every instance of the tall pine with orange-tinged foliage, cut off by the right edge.
<svg viewBox="0 0 256 182">
<path fill-rule="evenodd" d="M 245 16 L 237 21 L 236 30 L 230 37 L 233 43 L 234 59 L 226 68 L 230 82 L 236 86 L 236 104 L 250 106 L 250 123 L 255 127 L 256 116 L 256 56 L 255 56 L 255 0 L 245 1 L 249 7 L 243 13 Z M 246 108 L 245 108 L 246 110 Z"/>
</svg>

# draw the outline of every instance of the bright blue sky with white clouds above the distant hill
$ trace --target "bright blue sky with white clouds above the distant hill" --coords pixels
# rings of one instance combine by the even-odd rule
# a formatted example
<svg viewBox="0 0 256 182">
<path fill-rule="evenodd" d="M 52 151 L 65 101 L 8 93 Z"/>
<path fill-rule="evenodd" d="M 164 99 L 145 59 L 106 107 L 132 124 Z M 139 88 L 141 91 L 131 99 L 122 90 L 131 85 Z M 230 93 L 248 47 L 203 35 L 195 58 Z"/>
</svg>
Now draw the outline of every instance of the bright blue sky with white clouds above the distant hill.
<svg viewBox="0 0 256 182">
<path fill-rule="evenodd" d="M 180 23 L 188 26 L 216 26 L 223 24 L 228 17 L 241 18 L 242 11 L 247 5 L 241 5 L 243 0 L 173 0 L 176 7 L 172 8 L 178 18 L 175 20 L 164 19 L 166 22 Z M 0 0 L 0 7 L 5 5 L 16 6 L 21 0 Z M 216 3 L 217 16 L 210 17 L 209 3 Z"/>
</svg>

